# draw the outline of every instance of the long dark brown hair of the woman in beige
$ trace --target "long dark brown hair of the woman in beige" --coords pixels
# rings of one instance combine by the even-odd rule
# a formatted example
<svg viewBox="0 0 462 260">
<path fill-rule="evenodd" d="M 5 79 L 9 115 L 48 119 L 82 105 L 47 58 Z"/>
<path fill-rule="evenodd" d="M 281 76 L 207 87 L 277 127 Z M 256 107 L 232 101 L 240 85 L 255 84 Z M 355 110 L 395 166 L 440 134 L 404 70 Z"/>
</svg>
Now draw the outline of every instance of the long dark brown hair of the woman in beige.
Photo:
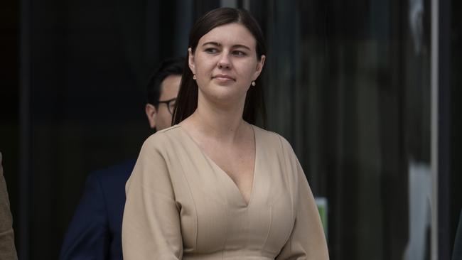
<svg viewBox="0 0 462 260">
<path fill-rule="evenodd" d="M 261 60 L 262 55 L 266 55 L 267 48 L 264 44 L 262 29 L 250 13 L 243 9 L 218 8 L 205 13 L 195 22 L 189 34 L 189 48 L 195 53 L 199 39 L 206 33 L 218 26 L 224 26 L 229 23 L 240 23 L 245 26 L 257 43 L 257 59 Z M 186 56 L 188 57 L 188 56 Z M 173 112 L 172 125 L 179 124 L 189 117 L 198 107 L 198 85 L 193 80 L 193 72 L 188 69 L 188 59 L 186 59 L 185 70 L 181 77 L 180 90 L 176 99 L 176 107 Z M 263 72 L 263 71 L 262 71 Z M 260 74 L 261 76 L 261 74 Z M 266 109 L 264 107 L 264 94 L 262 80 L 260 77 L 255 80 L 256 85 L 249 88 L 245 98 L 244 112 L 242 119 L 249 124 L 255 124 L 258 116 L 262 119 L 262 124 L 266 124 Z"/>
</svg>

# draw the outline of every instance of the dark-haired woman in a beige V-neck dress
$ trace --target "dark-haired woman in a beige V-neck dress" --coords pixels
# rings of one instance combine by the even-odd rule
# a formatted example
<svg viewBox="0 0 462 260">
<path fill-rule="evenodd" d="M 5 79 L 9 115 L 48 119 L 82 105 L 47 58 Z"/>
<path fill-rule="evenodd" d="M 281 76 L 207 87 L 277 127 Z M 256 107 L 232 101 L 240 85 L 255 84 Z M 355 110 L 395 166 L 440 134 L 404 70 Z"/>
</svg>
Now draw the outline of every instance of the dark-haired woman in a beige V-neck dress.
<svg viewBox="0 0 462 260">
<path fill-rule="evenodd" d="M 173 126 L 149 137 L 127 182 L 124 259 L 328 259 L 289 143 L 254 126 L 262 32 L 221 8 L 193 26 Z"/>
</svg>

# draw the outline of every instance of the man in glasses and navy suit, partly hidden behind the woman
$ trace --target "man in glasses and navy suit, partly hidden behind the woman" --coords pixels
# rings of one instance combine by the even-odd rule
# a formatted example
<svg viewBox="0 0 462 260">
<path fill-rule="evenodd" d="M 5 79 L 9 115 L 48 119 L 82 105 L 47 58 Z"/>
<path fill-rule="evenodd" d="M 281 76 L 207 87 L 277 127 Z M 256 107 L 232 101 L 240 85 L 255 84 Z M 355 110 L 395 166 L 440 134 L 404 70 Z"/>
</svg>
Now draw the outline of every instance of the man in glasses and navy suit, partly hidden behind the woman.
<svg viewBox="0 0 462 260">
<path fill-rule="evenodd" d="M 183 58 L 164 60 L 151 76 L 145 109 L 151 129 L 171 126 L 184 64 Z M 90 173 L 65 234 L 60 259 L 122 259 L 125 183 L 135 162 Z"/>
</svg>

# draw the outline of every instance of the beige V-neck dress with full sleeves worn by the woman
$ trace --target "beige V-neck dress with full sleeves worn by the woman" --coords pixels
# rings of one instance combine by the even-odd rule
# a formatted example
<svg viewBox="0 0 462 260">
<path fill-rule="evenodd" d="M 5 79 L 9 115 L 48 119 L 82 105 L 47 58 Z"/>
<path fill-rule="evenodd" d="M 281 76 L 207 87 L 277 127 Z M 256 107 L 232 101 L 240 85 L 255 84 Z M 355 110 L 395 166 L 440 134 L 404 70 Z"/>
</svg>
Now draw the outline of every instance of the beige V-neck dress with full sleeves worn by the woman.
<svg viewBox="0 0 462 260">
<path fill-rule="evenodd" d="M 181 126 L 146 139 L 126 185 L 124 259 L 328 259 L 316 203 L 289 142 L 252 127 L 248 204 Z"/>
</svg>

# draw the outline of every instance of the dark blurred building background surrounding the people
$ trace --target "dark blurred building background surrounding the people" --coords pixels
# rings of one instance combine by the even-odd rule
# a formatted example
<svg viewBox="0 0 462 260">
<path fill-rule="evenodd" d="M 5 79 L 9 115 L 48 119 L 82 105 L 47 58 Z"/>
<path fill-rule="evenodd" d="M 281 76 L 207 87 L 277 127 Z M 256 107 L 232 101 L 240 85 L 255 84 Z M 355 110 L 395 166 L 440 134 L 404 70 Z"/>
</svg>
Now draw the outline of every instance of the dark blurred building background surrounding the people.
<svg viewBox="0 0 462 260">
<path fill-rule="evenodd" d="M 144 86 L 198 16 L 267 39 L 267 129 L 294 147 L 331 259 L 450 259 L 462 208 L 458 0 L 3 0 L 0 151 L 19 259 L 57 259 L 87 174 L 151 134 Z"/>
</svg>

